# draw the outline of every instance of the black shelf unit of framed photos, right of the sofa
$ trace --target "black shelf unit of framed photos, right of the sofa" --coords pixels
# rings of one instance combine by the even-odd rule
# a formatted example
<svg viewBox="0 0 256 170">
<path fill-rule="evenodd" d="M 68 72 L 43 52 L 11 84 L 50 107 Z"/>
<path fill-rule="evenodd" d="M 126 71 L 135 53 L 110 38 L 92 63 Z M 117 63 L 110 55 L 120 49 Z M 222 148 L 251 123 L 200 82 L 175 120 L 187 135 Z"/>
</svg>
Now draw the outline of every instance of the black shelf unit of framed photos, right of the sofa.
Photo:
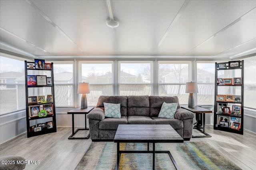
<svg viewBox="0 0 256 170">
<path fill-rule="evenodd" d="M 234 61 L 232 61 L 234 62 Z M 238 133 L 243 135 L 244 133 L 244 61 L 237 61 L 240 63 L 240 67 L 230 68 L 229 62 L 226 63 L 215 63 L 215 99 L 214 99 L 214 129 L 228 131 L 232 133 Z M 219 68 L 218 64 L 226 64 L 226 68 Z M 229 84 L 220 85 L 217 78 L 220 78 L 220 72 L 224 73 L 224 78 L 237 78 L 241 77 L 241 84 Z M 228 72 L 228 74 L 226 74 Z M 235 74 L 239 74 L 240 76 L 235 76 Z M 227 77 L 226 77 L 227 76 Z M 228 92 L 229 94 L 221 94 L 223 92 Z M 239 102 L 231 102 L 231 101 L 218 101 L 217 95 L 233 95 L 240 96 Z M 223 110 L 220 109 L 220 106 L 230 107 L 230 111 L 232 110 L 232 106 L 240 106 L 240 114 L 224 114 Z M 224 119 L 227 118 L 228 127 L 225 127 L 225 124 L 220 125 L 220 117 Z M 225 120 L 223 120 L 225 122 Z M 233 122 L 240 123 L 240 128 L 232 129 Z"/>
</svg>

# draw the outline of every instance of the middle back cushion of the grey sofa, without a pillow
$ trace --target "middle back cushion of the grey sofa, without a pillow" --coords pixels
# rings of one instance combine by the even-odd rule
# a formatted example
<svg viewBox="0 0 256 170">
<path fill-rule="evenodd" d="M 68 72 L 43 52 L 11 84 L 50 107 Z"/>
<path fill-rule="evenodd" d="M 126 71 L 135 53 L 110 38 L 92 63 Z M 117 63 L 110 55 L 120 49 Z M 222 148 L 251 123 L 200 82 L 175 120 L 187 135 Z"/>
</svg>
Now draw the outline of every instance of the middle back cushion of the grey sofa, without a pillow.
<svg viewBox="0 0 256 170">
<path fill-rule="evenodd" d="M 149 96 L 128 96 L 128 116 L 150 116 Z"/>
</svg>

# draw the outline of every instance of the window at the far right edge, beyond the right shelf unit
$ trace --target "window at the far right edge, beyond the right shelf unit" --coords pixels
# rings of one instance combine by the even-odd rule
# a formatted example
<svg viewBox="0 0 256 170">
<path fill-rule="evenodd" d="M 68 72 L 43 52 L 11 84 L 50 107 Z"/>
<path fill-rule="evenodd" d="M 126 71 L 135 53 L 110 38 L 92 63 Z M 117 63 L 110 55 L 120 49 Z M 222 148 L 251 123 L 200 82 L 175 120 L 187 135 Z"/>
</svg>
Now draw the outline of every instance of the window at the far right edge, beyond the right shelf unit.
<svg viewBox="0 0 256 170">
<path fill-rule="evenodd" d="M 256 109 L 256 56 L 244 60 L 244 107 Z"/>
</svg>

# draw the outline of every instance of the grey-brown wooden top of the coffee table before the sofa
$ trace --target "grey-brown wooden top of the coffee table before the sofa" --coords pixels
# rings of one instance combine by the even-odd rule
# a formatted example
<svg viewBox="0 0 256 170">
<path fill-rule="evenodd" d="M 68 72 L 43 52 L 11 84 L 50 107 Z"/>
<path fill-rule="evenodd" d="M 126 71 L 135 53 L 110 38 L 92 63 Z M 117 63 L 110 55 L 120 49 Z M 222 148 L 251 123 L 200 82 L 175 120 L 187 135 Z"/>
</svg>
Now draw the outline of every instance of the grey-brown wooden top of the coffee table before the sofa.
<svg viewBox="0 0 256 170">
<path fill-rule="evenodd" d="M 114 142 L 183 143 L 171 125 L 118 125 Z"/>
</svg>

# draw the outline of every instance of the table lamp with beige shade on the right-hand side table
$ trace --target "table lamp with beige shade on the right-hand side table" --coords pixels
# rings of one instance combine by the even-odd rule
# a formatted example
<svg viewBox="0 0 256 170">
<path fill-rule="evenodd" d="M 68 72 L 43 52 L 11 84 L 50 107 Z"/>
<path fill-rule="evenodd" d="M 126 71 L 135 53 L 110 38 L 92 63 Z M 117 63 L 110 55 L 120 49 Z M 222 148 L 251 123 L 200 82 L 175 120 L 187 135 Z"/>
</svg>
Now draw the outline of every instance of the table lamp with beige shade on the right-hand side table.
<svg viewBox="0 0 256 170">
<path fill-rule="evenodd" d="M 185 93 L 189 93 L 188 107 L 194 108 L 195 107 L 194 93 L 198 93 L 197 83 L 196 82 L 187 82 Z"/>
</svg>

